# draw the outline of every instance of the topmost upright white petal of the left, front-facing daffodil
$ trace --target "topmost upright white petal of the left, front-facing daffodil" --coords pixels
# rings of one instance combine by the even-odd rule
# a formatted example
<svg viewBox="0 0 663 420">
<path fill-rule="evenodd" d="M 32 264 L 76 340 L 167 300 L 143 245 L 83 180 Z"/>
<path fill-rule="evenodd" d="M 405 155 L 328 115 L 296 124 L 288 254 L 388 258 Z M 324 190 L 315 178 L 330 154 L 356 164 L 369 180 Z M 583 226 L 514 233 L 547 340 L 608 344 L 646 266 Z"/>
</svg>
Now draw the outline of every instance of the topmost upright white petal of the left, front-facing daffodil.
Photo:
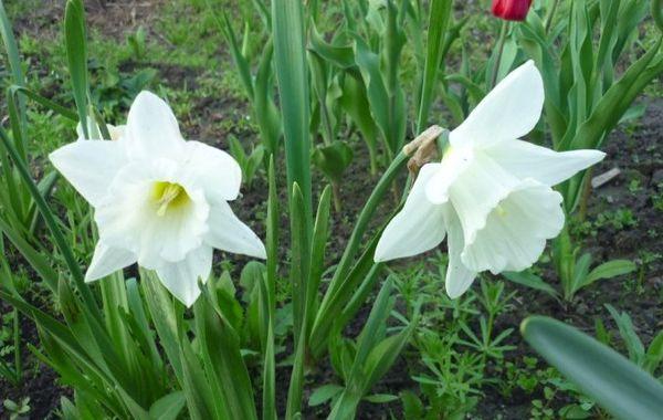
<svg viewBox="0 0 663 420">
<path fill-rule="evenodd" d="M 131 158 L 182 156 L 185 140 L 170 106 L 151 92 L 136 96 L 127 117 L 127 148 Z"/>
</svg>

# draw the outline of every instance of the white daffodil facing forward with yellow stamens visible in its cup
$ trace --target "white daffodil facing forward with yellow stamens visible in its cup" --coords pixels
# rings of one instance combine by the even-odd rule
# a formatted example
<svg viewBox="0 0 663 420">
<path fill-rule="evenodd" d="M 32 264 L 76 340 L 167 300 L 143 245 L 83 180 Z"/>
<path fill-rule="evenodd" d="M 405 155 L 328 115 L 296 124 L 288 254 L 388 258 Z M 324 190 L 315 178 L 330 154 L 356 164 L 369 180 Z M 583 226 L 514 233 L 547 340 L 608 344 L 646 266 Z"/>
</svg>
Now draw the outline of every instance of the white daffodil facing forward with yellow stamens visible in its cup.
<svg viewBox="0 0 663 420">
<path fill-rule="evenodd" d="M 186 141 L 170 107 L 141 92 L 116 140 L 78 139 L 53 165 L 94 207 L 99 241 L 91 282 L 138 262 L 185 305 L 210 275 L 212 249 L 265 258 L 261 240 L 232 212 L 242 172 L 227 153 Z"/>
</svg>

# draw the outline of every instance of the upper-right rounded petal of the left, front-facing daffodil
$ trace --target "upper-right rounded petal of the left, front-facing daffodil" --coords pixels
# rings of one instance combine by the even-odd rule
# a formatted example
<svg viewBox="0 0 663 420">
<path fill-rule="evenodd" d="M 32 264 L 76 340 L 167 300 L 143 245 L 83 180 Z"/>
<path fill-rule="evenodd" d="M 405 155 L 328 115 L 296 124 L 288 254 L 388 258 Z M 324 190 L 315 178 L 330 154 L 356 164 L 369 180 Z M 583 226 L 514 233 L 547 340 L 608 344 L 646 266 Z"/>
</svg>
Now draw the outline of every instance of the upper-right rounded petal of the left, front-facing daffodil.
<svg viewBox="0 0 663 420">
<path fill-rule="evenodd" d="M 242 169 L 223 150 L 200 141 L 186 143 L 185 177 L 201 186 L 210 201 L 234 200 L 240 193 Z"/>
</svg>

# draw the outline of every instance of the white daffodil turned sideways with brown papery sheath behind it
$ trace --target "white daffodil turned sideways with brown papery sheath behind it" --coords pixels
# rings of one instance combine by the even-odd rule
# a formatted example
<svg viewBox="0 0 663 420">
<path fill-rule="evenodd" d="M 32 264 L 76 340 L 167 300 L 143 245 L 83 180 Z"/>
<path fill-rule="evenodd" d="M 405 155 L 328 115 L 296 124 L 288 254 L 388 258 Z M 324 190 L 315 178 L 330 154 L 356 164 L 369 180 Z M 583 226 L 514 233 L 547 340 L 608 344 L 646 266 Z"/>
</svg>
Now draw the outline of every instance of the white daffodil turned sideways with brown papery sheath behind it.
<svg viewBox="0 0 663 420">
<path fill-rule="evenodd" d="M 442 161 L 421 168 L 403 209 L 385 229 L 375 261 L 420 254 L 448 234 L 451 297 L 463 294 L 478 272 L 534 264 L 565 223 L 561 195 L 551 186 L 606 156 L 519 140 L 535 127 L 543 105 L 543 80 L 528 61 L 450 133 Z"/>
</svg>

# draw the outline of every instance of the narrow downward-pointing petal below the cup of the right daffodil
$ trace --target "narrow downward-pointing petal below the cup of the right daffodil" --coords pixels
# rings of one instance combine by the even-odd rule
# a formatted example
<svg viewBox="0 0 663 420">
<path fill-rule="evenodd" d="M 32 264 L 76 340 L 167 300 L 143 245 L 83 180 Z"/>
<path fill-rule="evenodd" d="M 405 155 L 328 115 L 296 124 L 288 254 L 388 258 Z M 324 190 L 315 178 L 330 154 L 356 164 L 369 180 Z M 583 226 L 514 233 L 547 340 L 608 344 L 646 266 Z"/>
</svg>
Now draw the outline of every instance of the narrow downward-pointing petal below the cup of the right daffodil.
<svg viewBox="0 0 663 420">
<path fill-rule="evenodd" d="M 444 204 L 444 221 L 449 237 L 446 238 L 446 246 L 449 249 L 449 264 L 446 265 L 446 279 L 444 288 L 451 298 L 456 298 L 470 288 L 476 272 L 467 269 L 461 260 L 461 252 L 465 246 L 463 237 L 463 227 L 457 214 L 450 204 Z"/>
</svg>

